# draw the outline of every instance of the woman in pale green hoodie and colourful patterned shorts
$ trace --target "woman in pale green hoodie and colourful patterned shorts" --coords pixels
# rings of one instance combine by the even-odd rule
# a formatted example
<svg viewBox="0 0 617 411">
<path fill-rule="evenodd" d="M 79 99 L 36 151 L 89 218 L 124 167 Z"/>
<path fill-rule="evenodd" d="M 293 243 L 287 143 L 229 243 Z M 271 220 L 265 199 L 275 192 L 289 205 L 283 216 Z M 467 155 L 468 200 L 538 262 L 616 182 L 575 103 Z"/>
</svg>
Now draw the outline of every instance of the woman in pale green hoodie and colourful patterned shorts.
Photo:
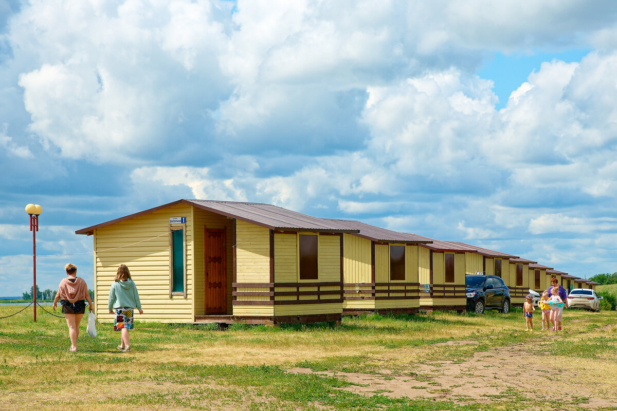
<svg viewBox="0 0 617 411">
<path fill-rule="evenodd" d="M 128 330 L 133 330 L 133 309 L 138 309 L 139 314 L 144 314 L 141 309 L 141 301 L 137 287 L 131 279 L 128 267 L 120 264 L 112 288 L 109 290 L 109 314 L 114 314 L 114 331 L 122 332 L 122 340 L 118 349 L 120 351 L 131 351 L 128 344 Z"/>
</svg>

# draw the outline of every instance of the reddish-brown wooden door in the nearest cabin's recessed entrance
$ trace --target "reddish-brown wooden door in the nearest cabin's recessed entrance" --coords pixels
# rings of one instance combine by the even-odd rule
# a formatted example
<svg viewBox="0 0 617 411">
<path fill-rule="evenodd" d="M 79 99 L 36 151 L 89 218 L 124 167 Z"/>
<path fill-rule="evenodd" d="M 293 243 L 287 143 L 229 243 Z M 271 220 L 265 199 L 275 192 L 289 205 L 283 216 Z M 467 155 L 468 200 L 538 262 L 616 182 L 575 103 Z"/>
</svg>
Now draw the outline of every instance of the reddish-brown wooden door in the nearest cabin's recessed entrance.
<svg viewBox="0 0 617 411">
<path fill-rule="evenodd" d="M 205 314 L 227 313 L 225 230 L 204 229 Z"/>
</svg>

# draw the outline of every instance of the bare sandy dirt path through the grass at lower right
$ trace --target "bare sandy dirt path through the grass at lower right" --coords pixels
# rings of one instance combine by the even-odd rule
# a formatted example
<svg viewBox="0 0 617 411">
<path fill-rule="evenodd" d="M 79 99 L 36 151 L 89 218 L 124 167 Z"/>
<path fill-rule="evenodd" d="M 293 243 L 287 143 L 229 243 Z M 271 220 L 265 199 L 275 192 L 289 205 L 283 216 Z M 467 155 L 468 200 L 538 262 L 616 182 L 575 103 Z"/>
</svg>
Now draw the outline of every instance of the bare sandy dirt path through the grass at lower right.
<svg viewBox="0 0 617 411">
<path fill-rule="evenodd" d="M 553 338 L 546 336 L 545 338 Z M 474 341 L 449 341 L 444 345 L 475 344 Z M 561 367 L 561 372 L 547 372 L 552 367 L 551 359 L 532 354 L 526 349 L 529 344 L 492 348 L 488 352 L 477 352 L 463 361 L 410 361 L 413 372 L 394 375 L 388 370 L 381 374 L 317 372 L 334 375 L 350 383 L 358 384 L 347 389 L 354 393 L 373 395 L 380 393 L 391 397 L 433 398 L 459 403 L 506 401 L 508 397 L 521 396 L 529 400 L 543 401 L 550 398 L 559 401 L 560 410 L 575 410 L 576 407 L 595 410 L 598 408 L 617 409 L 615 383 L 608 383 L 607 376 L 598 376 L 597 361 L 588 362 L 573 359 L 573 364 Z M 411 354 L 399 352 L 400 356 Z M 409 358 L 417 358 L 418 353 Z M 561 360 L 560 360 L 561 361 Z M 539 367 L 539 364 L 544 364 Z M 594 365 L 595 364 L 595 365 Z M 594 372 L 586 368 L 592 366 Z M 615 364 L 610 364 L 615 370 Z M 590 369 L 594 369 L 590 368 Z M 292 373 L 312 373 L 308 368 L 292 368 Z M 559 387 L 556 392 L 555 387 Z M 502 400 L 500 400 L 502 399 Z"/>
</svg>

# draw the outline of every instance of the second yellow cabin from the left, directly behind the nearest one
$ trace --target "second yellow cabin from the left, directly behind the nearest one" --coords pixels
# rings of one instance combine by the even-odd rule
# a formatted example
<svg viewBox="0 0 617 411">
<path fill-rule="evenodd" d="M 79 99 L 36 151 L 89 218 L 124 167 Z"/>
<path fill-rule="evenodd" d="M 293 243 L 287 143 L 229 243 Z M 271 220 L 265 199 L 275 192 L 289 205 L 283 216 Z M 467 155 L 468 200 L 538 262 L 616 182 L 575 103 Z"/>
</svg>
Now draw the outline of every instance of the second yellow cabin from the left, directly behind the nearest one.
<svg viewBox="0 0 617 411">
<path fill-rule="evenodd" d="M 337 222 L 343 234 L 343 314 L 418 312 L 418 244 L 431 243 L 360 221 Z"/>
</svg>

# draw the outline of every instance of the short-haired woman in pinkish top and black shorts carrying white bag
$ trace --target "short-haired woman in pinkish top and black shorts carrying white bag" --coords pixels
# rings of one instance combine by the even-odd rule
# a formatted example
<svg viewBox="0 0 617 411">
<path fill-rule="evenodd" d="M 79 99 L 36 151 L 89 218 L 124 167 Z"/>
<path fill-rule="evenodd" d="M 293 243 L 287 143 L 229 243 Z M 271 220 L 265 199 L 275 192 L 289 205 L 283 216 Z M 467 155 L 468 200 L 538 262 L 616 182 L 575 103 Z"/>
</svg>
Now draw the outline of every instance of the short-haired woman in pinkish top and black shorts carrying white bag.
<svg viewBox="0 0 617 411">
<path fill-rule="evenodd" d="M 86 312 L 86 304 L 83 299 L 88 300 L 90 311 L 93 311 L 92 299 L 88 293 L 88 285 L 81 277 L 77 277 L 77 267 L 73 264 L 64 266 L 67 271 L 67 278 L 60 281 L 56 298 L 54 298 L 54 310 L 60 300 L 62 313 L 67 319 L 68 335 L 71 338 L 71 348 L 68 351 L 77 351 L 77 336 L 79 335 L 79 324 Z"/>
</svg>

